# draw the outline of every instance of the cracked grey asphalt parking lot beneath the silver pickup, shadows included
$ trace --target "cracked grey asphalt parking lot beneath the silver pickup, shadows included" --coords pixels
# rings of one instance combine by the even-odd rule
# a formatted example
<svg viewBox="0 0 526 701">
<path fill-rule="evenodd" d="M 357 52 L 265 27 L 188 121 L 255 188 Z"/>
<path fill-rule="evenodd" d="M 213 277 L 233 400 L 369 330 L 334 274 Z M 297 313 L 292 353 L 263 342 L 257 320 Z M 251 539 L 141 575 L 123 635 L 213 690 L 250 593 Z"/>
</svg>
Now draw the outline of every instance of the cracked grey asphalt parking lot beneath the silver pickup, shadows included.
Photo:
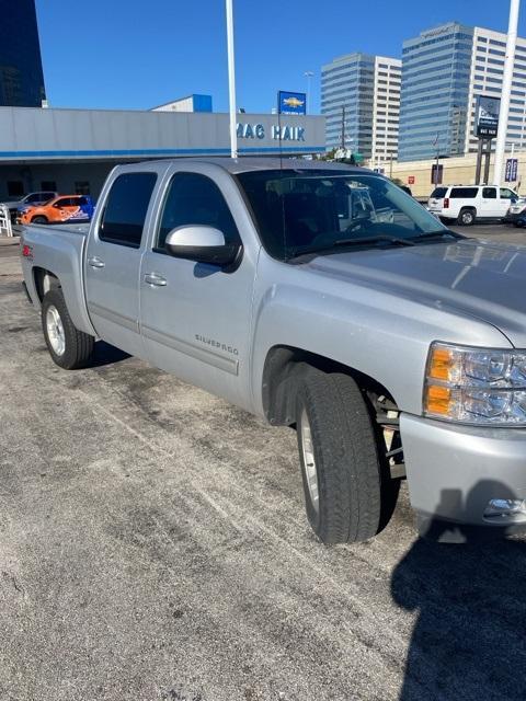
<svg viewBox="0 0 526 701">
<path fill-rule="evenodd" d="M 526 243 L 504 227 L 462 233 Z M 526 539 L 325 548 L 295 435 L 100 343 L 67 372 L 0 246 L 0 699 L 524 698 Z"/>
</svg>

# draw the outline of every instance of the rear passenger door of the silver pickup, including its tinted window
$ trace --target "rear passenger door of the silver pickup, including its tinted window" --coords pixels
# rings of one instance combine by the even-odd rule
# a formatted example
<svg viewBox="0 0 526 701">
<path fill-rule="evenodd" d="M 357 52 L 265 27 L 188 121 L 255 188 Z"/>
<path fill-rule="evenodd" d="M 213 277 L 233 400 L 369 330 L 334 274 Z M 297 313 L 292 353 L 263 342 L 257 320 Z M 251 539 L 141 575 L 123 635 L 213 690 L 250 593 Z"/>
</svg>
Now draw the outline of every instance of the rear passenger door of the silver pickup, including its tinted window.
<svg viewBox="0 0 526 701">
<path fill-rule="evenodd" d="M 102 197 L 84 260 L 85 299 L 96 333 L 144 356 L 139 333 L 139 273 L 158 173 L 121 172 Z"/>
</svg>

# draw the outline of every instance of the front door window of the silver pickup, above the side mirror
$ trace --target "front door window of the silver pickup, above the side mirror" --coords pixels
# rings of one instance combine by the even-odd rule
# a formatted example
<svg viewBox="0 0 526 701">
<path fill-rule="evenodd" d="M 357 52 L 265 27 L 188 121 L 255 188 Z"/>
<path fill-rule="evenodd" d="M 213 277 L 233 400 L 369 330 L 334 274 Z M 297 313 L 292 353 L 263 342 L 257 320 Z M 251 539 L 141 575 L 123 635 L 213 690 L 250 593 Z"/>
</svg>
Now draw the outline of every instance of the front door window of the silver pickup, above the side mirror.
<svg viewBox="0 0 526 701">
<path fill-rule="evenodd" d="M 170 231 L 191 225 L 218 229 L 227 244 L 239 241 L 233 217 L 218 186 L 199 173 L 176 173 L 164 200 L 157 249 L 164 248 Z"/>
</svg>

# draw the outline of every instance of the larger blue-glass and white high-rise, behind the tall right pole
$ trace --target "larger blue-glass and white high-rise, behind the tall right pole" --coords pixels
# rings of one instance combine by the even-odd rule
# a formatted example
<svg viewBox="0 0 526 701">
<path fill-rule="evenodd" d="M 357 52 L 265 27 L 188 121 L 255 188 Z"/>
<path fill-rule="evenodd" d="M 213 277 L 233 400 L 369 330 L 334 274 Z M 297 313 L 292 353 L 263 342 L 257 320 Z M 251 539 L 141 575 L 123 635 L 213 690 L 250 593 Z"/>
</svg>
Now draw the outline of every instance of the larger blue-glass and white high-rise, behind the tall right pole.
<svg viewBox="0 0 526 701">
<path fill-rule="evenodd" d="M 505 53 L 505 34 L 457 22 L 403 43 L 400 161 L 477 151 L 477 95 L 500 97 Z M 522 147 L 525 130 L 526 39 L 517 38 L 506 139 Z"/>
</svg>

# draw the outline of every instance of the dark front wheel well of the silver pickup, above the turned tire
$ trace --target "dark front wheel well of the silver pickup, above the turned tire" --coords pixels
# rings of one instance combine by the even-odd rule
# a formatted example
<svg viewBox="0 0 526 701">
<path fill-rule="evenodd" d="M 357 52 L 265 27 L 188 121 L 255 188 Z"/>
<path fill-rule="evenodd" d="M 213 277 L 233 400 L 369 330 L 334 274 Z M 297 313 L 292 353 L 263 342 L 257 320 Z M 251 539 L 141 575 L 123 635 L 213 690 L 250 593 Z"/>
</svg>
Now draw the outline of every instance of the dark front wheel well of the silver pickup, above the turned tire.
<svg viewBox="0 0 526 701">
<path fill-rule="evenodd" d="M 380 382 L 374 378 L 330 358 L 290 346 L 274 346 L 268 352 L 263 369 L 263 409 L 273 425 L 290 426 L 296 421 L 296 395 L 301 381 L 301 367 L 310 365 L 323 372 L 350 375 L 373 404 L 378 398 L 397 410 L 396 402 Z"/>
</svg>

